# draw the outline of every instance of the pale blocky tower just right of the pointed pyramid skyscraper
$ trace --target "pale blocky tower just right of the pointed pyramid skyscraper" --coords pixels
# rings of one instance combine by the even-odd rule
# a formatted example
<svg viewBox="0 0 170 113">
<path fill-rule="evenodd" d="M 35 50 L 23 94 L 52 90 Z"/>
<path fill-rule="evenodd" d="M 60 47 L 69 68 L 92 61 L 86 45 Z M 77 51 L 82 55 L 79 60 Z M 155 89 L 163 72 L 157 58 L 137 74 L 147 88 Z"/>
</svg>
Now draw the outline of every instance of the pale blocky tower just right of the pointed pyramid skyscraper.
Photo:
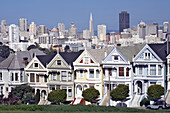
<svg viewBox="0 0 170 113">
<path fill-rule="evenodd" d="M 106 25 L 98 25 L 97 34 L 100 41 L 106 41 Z"/>
</svg>

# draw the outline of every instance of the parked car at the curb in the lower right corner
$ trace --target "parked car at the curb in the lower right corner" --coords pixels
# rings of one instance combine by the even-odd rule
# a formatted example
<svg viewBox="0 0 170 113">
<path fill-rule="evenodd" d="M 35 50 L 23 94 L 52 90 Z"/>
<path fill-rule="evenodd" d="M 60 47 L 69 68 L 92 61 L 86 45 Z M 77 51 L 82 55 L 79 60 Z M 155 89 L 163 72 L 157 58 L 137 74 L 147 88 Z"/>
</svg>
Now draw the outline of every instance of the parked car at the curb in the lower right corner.
<svg viewBox="0 0 170 113">
<path fill-rule="evenodd" d="M 147 109 L 165 109 L 167 108 L 166 102 L 161 100 L 161 101 L 156 101 L 152 105 L 147 105 Z"/>
</svg>

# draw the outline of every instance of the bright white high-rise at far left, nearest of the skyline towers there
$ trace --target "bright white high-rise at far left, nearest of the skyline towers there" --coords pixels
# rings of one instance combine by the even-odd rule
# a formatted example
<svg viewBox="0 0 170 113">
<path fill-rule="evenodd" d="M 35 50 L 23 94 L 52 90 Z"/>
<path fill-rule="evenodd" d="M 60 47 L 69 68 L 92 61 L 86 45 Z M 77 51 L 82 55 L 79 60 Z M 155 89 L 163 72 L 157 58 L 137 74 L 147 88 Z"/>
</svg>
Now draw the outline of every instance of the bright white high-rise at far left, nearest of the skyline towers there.
<svg viewBox="0 0 170 113">
<path fill-rule="evenodd" d="M 19 42 L 19 27 L 15 24 L 9 26 L 9 42 L 18 43 Z"/>
</svg>

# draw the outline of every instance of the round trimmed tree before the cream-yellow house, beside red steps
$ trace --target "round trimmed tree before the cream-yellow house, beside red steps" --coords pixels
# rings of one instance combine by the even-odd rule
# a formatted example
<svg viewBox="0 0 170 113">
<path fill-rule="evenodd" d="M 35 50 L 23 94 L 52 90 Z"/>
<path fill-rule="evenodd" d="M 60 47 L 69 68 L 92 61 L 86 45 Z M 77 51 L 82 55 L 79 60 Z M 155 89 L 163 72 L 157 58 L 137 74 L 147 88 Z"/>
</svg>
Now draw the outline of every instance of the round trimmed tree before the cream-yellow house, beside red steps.
<svg viewBox="0 0 170 113">
<path fill-rule="evenodd" d="M 99 91 L 95 88 L 88 88 L 82 93 L 83 99 L 91 103 L 95 103 L 99 95 Z"/>
</svg>

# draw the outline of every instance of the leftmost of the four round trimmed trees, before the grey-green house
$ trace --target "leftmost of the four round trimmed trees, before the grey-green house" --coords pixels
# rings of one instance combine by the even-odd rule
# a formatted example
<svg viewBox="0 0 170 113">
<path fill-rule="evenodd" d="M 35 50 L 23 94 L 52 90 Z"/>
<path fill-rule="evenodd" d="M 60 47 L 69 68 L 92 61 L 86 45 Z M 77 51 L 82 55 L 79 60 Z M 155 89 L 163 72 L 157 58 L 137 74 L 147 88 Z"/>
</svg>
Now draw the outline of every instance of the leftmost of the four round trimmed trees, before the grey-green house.
<svg viewBox="0 0 170 113">
<path fill-rule="evenodd" d="M 60 103 L 63 103 L 66 101 L 67 98 L 67 94 L 66 91 L 64 89 L 60 89 L 60 90 L 53 90 L 48 94 L 48 98 L 47 100 L 57 103 L 58 105 L 60 105 Z"/>
</svg>

